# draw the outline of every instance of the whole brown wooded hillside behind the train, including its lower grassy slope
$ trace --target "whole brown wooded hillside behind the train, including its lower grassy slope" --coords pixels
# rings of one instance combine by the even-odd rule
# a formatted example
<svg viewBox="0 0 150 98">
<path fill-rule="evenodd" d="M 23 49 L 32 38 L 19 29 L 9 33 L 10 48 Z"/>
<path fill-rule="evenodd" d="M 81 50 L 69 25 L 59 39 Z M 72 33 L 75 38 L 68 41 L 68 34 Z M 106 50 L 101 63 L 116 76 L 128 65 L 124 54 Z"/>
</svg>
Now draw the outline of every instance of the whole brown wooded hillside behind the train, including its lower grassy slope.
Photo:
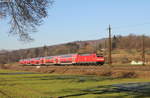
<svg viewBox="0 0 150 98">
<path fill-rule="evenodd" d="M 145 53 L 147 60 L 150 56 L 150 37 L 145 36 Z M 131 60 L 141 59 L 142 36 L 130 34 L 128 36 L 112 37 L 112 56 L 115 63 L 129 63 Z M 101 53 L 108 55 L 108 38 L 100 40 L 75 41 L 53 46 L 43 46 L 30 49 L 19 49 L 12 51 L 0 51 L 0 63 L 17 62 L 19 59 L 34 58 L 42 56 L 70 54 L 70 53 Z M 133 57 L 132 57 L 133 56 Z"/>
</svg>

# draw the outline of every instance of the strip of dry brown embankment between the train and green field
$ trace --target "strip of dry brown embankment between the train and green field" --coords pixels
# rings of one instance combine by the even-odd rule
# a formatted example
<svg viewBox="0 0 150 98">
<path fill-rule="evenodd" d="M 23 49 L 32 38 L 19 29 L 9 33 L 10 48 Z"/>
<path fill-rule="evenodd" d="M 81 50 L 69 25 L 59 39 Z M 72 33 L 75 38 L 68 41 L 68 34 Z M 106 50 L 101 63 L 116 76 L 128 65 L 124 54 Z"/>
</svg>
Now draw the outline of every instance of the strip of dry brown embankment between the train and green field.
<svg viewBox="0 0 150 98">
<path fill-rule="evenodd" d="M 150 66 L 20 66 L 5 65 L 1 69 L 41 73 L 110 76 L 113 78 L 150 78 Z"/>
</svg>

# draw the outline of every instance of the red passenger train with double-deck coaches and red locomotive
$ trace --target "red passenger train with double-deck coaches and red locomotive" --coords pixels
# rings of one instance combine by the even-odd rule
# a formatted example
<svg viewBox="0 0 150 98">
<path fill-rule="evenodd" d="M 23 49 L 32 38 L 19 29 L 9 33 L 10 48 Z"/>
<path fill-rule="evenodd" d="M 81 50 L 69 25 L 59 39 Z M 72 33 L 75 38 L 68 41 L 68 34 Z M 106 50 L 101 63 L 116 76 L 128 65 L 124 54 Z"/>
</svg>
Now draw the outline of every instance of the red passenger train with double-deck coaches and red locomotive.
<svg viewBox="0 0 150 98">
<path fill-rule="evenodd" d="M 21 59 L 20 64 L 23 65 L 83 65 L 97 64 L 103 65 L 105 59 L 103 56 L 93 54 L 66 54 L 57 56 L 38 57 L 30 59 Z"/>
</svg>

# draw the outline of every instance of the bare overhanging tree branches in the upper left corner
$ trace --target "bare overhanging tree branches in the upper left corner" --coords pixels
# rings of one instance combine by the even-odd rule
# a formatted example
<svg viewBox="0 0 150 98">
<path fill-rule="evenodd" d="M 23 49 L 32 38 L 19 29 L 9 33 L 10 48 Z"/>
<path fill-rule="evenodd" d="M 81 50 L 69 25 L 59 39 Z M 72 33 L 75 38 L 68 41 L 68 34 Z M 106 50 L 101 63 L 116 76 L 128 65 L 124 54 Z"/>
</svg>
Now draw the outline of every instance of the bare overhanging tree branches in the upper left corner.
<svg viewBox="0 0 150 98">
<path fill-rule="evenodd" d="M 21 41 L 32 40 L 43 19 L 48 16 L 47 8 L 53 0 L 0 0 L 0 19 L 10 19 L 9 33 L 18 35 Z"/>
</svg>

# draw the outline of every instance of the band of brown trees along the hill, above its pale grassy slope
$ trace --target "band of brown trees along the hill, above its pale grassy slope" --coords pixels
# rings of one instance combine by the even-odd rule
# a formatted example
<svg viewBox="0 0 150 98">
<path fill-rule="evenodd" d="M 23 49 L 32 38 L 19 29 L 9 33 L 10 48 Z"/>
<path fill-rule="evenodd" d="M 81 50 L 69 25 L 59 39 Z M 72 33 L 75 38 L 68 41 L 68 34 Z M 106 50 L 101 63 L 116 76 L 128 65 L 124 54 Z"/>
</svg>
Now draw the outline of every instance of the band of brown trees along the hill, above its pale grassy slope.
<svg viewBox="0 0 150 98">
<path fill-rule="evenodd" d="M 145 36 L 145 48 L 150 48 L 150 37 Z M 139 50 L 142 45 L 142 37 L 130 34 L 128 36 L 113 36 L 112 51 L 116 49 Z M 70 53 L 98 53 L 107 55 L 108 39 L 91 40 L 91 41 L 75 41 L 61 45 L 43 46 L 30 49 L 20 49 L 13 51 L 5 51 L 0 53 L 0 63 L 17 62 L 19 59 L 52 56 Z M 105 52 L 105 53 L 104 53 Z"/>
</svg>

